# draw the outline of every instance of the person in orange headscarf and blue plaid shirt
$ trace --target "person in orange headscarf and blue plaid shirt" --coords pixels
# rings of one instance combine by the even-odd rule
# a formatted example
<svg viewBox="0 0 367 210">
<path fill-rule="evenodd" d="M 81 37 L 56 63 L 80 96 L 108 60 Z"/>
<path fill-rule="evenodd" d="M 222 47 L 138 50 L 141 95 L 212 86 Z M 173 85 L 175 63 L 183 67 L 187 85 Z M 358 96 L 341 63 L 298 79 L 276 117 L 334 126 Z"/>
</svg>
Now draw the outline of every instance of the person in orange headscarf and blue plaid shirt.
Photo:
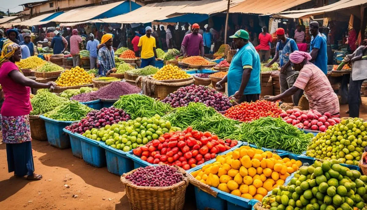
<svg viewBox="0 0 367 210">
<path fill-rule="evenodd" d="M 106 76 L 108 70 L 115 68 L 115 51 L 112 48 L 112 34 L 106 33 L 102 36 L 101 44 L 97 46 L 98 51 L 98 74 Z"/>
</svg>

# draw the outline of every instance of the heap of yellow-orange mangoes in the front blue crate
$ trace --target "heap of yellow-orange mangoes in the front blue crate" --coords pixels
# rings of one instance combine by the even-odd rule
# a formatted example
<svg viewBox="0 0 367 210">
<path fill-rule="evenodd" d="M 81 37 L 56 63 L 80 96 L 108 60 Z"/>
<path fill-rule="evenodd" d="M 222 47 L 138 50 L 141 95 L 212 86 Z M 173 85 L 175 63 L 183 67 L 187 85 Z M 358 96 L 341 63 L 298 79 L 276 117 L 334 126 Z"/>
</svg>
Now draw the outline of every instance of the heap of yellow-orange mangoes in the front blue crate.
<svg viewBox="0 0 367 210">
<path fill-rule="evenodd" d="M 215 159 L 216 162 L 191 175 L 221 191 L 259 201 L 302 166 L 299 160 L 281 159 L 275 153 L 250 146 L 241 146 Z"/>
</svg>

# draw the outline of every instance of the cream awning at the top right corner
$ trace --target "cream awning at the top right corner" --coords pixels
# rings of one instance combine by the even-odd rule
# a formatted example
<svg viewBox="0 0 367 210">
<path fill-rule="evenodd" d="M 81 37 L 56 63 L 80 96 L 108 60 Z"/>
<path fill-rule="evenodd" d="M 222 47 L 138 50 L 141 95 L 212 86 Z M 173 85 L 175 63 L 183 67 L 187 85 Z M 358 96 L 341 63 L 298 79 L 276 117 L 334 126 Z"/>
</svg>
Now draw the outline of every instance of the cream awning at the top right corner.
<svg viewBox="0 0 367 210">
<path fill-rule="evenodd" d="M 352 7 L 357 7 L 367 4 L 367 0 L 341 0 L 334 4 L 329 4 L 324 7 L 312 8 L 307 10 L 292 10 L 279 12 L 272 15 L 275 18 L 308 18 L 313 15 L 319 15 L 327 12 L 344 10 Z"/>
</svg>

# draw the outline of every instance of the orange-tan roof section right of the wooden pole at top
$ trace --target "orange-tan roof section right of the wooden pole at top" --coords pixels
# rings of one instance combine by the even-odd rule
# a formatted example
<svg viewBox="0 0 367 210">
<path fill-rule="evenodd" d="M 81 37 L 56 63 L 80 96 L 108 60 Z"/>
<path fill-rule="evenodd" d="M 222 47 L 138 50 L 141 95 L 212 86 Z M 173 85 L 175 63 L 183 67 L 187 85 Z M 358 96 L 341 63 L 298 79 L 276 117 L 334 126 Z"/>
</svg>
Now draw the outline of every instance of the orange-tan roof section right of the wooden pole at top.
<svg viewBox="0 0 367 210">
<path fill-rule="evenodd" d="M 246 0 L 229 8 L 230 13 L 274 14 L 310 0 Z"/>
</svg>

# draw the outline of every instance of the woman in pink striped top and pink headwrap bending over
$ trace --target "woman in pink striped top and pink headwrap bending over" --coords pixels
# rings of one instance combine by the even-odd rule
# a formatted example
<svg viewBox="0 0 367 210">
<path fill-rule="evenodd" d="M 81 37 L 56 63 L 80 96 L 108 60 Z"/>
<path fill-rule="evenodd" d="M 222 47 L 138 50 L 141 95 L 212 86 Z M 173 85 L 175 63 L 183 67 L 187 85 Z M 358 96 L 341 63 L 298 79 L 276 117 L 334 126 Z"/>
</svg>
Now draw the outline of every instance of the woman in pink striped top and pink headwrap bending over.
<svg viewBox="0 0 367 210">
<path fill-rule="evenodd" d="M 293 68 L 299 71 L 293 87 L 269 101 L 277 101 L 293 95 L 297 90 L 304 90 L 308 98 L 310 109 L 315 109 L 321 114 L 329 112 L 331 115 L 339 115 L 339 99 L 326 75 L 315 64 L 309 62 L 311 55 L 301 51 L 294 51 L 289 59 Z"/>
</svg>

